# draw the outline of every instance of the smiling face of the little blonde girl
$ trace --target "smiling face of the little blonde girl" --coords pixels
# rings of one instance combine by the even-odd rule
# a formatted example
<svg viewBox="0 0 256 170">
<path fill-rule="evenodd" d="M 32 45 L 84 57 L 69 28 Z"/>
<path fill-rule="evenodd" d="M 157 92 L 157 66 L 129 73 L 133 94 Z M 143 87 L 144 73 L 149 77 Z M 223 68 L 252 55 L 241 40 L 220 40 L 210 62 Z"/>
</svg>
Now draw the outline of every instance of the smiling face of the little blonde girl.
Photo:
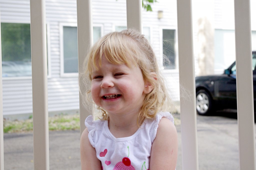
<svg viewBox="0 0 256 170">
<path fill-rule="evenodd" d="M 112 64 L 102 56 L 101 67 L 92 70 L 92 99 L 108 113 L 137 113 L 147 93 L 138 66 Z"/>
</svg>

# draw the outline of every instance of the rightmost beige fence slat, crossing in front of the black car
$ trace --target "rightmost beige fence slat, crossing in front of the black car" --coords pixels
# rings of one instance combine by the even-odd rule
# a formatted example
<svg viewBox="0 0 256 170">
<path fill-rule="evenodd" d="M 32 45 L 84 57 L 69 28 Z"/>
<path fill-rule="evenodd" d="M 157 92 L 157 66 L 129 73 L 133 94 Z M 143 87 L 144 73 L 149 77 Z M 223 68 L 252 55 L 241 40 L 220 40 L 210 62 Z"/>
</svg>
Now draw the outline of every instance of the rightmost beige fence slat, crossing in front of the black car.
<svg viewBox="0 0 256 170">
<path fill-rule="evenodd" d="M 237 117 L 240 169 L 255 169 L 250 0 L 235 0 Z"/>
</svg>

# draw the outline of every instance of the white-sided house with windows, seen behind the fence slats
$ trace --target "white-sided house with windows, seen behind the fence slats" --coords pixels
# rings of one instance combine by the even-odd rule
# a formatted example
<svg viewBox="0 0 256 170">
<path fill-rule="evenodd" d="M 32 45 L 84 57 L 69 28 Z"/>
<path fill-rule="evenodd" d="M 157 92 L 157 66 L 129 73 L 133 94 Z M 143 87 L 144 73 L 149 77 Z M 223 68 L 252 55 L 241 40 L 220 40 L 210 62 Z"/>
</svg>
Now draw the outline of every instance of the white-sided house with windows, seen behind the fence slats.
<svg viewBox="0 0 256 170">
<path fill-rule="evenodd" d="M 252 1 L 251 7 L 255 5 Z M 152 9 L 142 12 L 143 34 L 155 50 L 170 95 L 179 101 L 176 0 L 159 0 Z M 193 9 L 196 75 L 222 73 L 235 60 L 233 1 L 193 1 Z M 31 114 L 29 0 L 0 0 L 0 12 L 3 114 Z M 256 50 L 256 15 L 251 12 L 252 49 Z M 92 0 L 92 22 L 94 42 L 110 31 L 125 29 L 126 1 Z M 78 112 L 76 0 L 46 0 L 46 30 L 49 112 Z M 163 55 L 170 63 L 164 62 Z"/>
</svg>

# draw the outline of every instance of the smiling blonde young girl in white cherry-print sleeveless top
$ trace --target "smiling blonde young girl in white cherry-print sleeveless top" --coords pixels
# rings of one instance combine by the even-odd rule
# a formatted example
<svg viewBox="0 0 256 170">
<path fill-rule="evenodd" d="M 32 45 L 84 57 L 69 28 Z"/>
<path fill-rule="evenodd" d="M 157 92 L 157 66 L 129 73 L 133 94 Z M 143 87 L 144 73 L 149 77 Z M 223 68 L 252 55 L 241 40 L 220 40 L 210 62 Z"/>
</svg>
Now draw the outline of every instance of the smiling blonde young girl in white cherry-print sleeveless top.
<svg viewBox="0 0 256 170">
<path fill-rule="evenodd" d="M 89 75 L 85 103 L 102 112 L 90 115 L 81 135 L 81 169 L 173 170 L 177 131 L 152 47 L 138 31 L 123 30 L 102 37 L 91 48 L 84 67 Z"/>
</svg>

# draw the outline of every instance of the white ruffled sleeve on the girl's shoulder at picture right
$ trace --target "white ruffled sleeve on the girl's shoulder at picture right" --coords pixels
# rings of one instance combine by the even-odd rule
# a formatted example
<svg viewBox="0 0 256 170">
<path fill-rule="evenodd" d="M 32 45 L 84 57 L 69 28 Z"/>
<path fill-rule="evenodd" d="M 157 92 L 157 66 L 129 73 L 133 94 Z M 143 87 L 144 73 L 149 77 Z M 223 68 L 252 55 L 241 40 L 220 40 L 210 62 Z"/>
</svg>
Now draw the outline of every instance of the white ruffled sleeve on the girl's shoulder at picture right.
<svg viewBox="0 0 256 170">
<path fill-rule="evenodd" d="M 157 115 L 156 115 L 156 118 L 155 120 L 152 122 L 152 128 L 153 128 L 153 131 L 152 131 L 152 134 L 151 134 L 151 142 L 153 143 L 155 137 L 156 137 L 156 132 L 157 132 L 157 128 L 158 128 L 158 124 L 159 124 L 159 121 L 162 119 L 162 118 L 167 118 L 169 119 L 171 122 L 173 122 L 174 124 L 174 118 L 172 116 L 172 114 L 170 114 L 169 112 L 159 112 Z"/>
</svg>

